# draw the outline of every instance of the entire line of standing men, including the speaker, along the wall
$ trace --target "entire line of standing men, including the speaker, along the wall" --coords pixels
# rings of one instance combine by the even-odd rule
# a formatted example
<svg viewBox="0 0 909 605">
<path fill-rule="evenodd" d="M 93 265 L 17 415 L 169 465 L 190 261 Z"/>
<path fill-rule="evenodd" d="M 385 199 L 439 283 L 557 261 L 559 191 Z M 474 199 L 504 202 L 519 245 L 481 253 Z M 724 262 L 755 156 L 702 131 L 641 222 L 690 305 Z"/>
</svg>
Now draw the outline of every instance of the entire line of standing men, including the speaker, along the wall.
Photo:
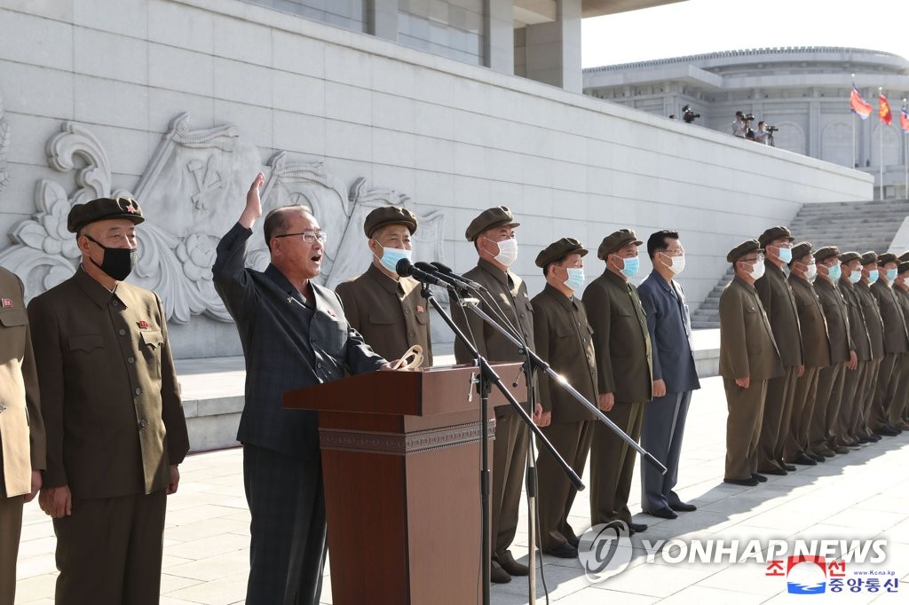
<svg viewBox="0 0 909 605">
<path fill-rule="evenodd" d="M 314 283 L 328 235 L 305 206 L 265 215 L 270 263 L 262 272 L 247 268 L 263 183 L 258 174 L 213 267 L 246 365 L 237 434 L 251 514 L 246 602 L 318 603 L 327 550 L 318 419 L 285 410 L 282 394 L 393 371 L 387 360 L 413 345 L 432 364 L 429 305 L 419 283 L 397 274 L 418 228 L 403 208 L 366 216 L 372 261 L 336 292 Z M 80 267 L 27 312 L 22 283 L 0 270 L 0 605 L 13 603 L 23 504 L 39 491 L 57 538 L 56 602 L 159 600 L 166 498 L 177 491 L 189 440 L 162 302 L 123 281 L 135 267 L 143 220 L 139 204 L 125 198 L 75 205 L 68 227 Z M 653 272 L 637 287 L 629 280 L 644 242 L 630 229 L 608 234 L 595 251 L 603 273 L 583 297 L 575 293 L 590 251 L 560 238 L 535 257 L 545 286 L 531 297 L 511 270 L 519 226 L 504 206 L 466 226 L 477 262 L 464 277 L 481 286 L 479 306 L 664 463 L 665 474 L 641 465 L 644 513 L 674 519 L 694 511 L 674 492 L 685 418 L 700 386 L 676 280 L 685 267 L 679 233 L 649 236 Z M 893 254 L 792 242 L 788 230 L 774 227 L 728 255 L 735 278 L 720 302 L 729 405 L 724 481 L 755 485 L 766 473 L 785 474 L 907 428 L 909 256 L 897 264 Z M 454 305 L 452 312 L 485 358 L 524 360 L 476 314 Z M 460 343 L 455 357 L 474 362 Z M 590 457 L 591 524 L 646 531 L 628 507 L 634 448 L 548 375 L 528 386 L 525 410 L 556 451 L 578 475 Z M 510 546 L 530 431 L 508 405 L 494 415 L 490 578 L 502 583 L 529 571 Z M 577 492 L 547 452 L 536 466 L 541 548 L 574 558 L 579 538 L 568 516 Z"/>
</svg>

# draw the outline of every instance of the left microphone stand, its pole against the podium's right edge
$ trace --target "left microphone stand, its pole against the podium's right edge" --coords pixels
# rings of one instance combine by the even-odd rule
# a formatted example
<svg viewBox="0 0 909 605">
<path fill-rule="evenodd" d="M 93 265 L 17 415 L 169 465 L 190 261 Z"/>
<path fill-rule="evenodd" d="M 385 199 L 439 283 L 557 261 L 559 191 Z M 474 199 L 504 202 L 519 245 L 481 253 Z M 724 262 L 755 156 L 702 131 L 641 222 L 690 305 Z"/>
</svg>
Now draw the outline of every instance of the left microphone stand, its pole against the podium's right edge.
<svg viewBox="0 0 909 605">
<path fill-rule="evenodd" d="M 417 277 L 419 279 L 419 277 Z M 457 301 L 463 301 L 461 298 L 461 293 L 454 286 L 447 286 L 448 291 L 454 295 L 454 299 Z M 477 366 L 480 368 L 479 381 L 477 382 L 477 391 L 480 393 L 480 431 L 481 431 L 481 453 L 480 453 L 480 499 L 482 511 L 480 513 L 481 517 L 481 530 L 483 532 L 482 538 L 482 549 L 481 552 L 481 561 L 483 567 L 483 604 L 489 605 L 490 595 L 489 595 L 489 574 L 490 568 L 492 566 L 492 546 L 491 546 L 491 535 L 490 535 L 490 520 L 489 520 L 489 494 L 490 494 L 490 476 L 489 476 L 489 393 L 492 391 L 492 386 L 502 392 L 505 399 L 511 403 L 515 411 L 518 412 L 518 415 L 522 417 L 524 422 L 526 422 L 531 429 L 534 431 L 540 440 L 544 443 L 546 449 L 554 456 L 556 461 L 558 461 L 565 473 L 568 474 L 569 479 L 574 483 L 574 486 L 578 490 L 584 490 L 584 483 L 581 481 L 581 478 L 577 476 L 577 473 L 568 466 L 568 463 L 564 461 L 562 456 L 559 455 L 553 444 L 549 442 L 540 431 L 539 427 L 534 424 L 534 421 L 531 420 L 530 416 L 527 415 L 527 412 L 524 412 L 524 408 L 521 407 L 521 404 L 514 400 L 514 396 L 511 392 L 505 388 L 505 385 L 502 382 L 502 379 L 494 371 L 493 367 L 489 364 L 488 361 L 480 354 L 479 351 L 474 347 L 474 343 L 470 342 L 464 332 L 455 325 L 454 320 L 448 313 L 445 312 L 445 309 L 442 308 L 442 305 L 435 300 L 435 295 L 432 290 L 429 288 L 429 284 L 423 282 L 423 289 L 421 291 L 423 297 L 429 301 L 429 304 L 435 309 L 435 312 L 442 317 L 443 321 L 448 324 L 448 327 L 451 328 L 454 332 L 454 336 L 460 341 L 464 346 L 467 347 L 467 350 L 476 360 Z M 463 305 L 464 302 L 461 302 Z M 494 426 L 494 423 L 493 423 Z"/>
</svg>

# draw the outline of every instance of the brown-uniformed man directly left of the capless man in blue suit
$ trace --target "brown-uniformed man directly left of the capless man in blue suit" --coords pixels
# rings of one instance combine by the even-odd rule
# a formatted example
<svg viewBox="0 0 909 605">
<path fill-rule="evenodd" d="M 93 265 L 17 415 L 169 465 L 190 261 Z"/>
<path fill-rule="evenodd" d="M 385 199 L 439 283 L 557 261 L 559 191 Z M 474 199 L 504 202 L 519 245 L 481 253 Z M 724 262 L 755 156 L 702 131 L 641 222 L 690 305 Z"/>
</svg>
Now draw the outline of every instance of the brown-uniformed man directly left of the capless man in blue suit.
<svg viewBox="0 0 909 605">
<path fill-rule="evenodd" d="M 599 407 L 629 437 L 641 439 L 644 403 L 653 399 L 650 332 L 637 290 L 628 279 L 637 274 L 634 231 L 620 229 L 600 243 L 597 256 L 606 270 L 584 290 L 584 306 L 594 328 L 599 377 Z M 644 531 L 628 510 L 636 452 L 609 427 L 594 425 L 590 452 L 591 523 L 624 521 L 628 529 Z"/>
</svg>

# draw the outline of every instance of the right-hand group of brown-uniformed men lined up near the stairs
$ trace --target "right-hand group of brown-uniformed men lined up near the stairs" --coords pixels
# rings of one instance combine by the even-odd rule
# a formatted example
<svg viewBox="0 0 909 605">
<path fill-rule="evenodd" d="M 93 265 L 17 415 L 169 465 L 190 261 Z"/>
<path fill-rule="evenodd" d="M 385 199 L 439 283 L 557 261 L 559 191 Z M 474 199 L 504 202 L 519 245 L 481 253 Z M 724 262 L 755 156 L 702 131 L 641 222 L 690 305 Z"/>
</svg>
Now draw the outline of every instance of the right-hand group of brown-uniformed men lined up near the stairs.
<svg viewBox="0 0 909 605">
<path fill-rule="evenodd" d="M 727 483 L 754 486 L 909 429 L 909 253 L 793 243 L 772 227 L 726 257 Z"/>
</svg>

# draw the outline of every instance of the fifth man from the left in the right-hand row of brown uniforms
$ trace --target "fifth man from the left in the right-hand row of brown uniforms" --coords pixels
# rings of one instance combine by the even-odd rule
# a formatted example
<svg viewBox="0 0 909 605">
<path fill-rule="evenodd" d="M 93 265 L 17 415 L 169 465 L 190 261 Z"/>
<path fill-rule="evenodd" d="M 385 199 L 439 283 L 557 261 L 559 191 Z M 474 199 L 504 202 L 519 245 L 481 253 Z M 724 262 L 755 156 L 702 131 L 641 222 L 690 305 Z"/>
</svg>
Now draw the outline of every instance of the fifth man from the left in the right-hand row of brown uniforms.
<svg viewBox="0 0 909 605">
<path fill-rule="evenodd" d="M 843 394 L 840 397 L 840 441 L 837 442 L 858 448 L 869 442 L 859 436 L 858 426 L 862 418 L 865 385 L 872 367 L 871 338 L 865 324 L 862 299 L 855 288 L 855 284 L 862 279 L 862 256 L 857 252 L 840 254 L 840 270 L 840 292 L 843 293 L 843 300 L 846 302 L 849 335 L 852 337 L 858 363 L 854 372 L 846 372 L 843 381 Z"/>
</svg>

